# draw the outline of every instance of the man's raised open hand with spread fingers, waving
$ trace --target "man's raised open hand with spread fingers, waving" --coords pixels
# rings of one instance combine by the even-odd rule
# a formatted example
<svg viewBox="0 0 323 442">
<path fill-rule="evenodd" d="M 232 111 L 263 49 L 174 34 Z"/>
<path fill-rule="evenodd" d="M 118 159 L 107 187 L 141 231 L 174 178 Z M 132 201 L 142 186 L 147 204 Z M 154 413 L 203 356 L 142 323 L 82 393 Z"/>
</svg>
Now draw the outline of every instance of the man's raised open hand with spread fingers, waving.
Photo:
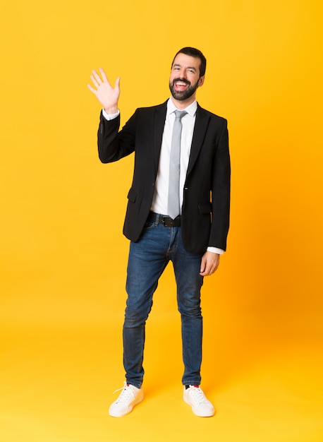
<svg viewBox="0 0 323 442">
<path fill-rule="evenodd" d="M 112 88 L 102 68 L 99 68 L 99 73 L 102 78 L 97 71 L 92 71 L 92 76 L 90 76 L 96 89 L 92 88 L 90 84 L 87 85 L 87 88 L 95 94 L 107 114 L 116 114 L 118 112 L 118 98 L 120 95 L 120 77 L 116 79 L 114 88 Z"/>
</svg>

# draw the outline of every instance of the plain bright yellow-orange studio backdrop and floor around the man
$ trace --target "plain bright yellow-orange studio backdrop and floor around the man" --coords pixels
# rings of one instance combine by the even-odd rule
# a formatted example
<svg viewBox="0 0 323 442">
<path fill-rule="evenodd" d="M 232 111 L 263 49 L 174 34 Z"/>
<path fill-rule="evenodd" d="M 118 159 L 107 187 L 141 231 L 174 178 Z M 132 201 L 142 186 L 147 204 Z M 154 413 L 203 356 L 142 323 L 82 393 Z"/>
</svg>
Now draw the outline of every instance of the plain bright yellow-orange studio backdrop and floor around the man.
<svg viewBox="0 0 323 442">
<path fill-rule="evenodd" d="M 19 1 L 1 6 L 1 442 L 319 442 L 322 2 Z M 121 387 L 133 157 L 97 158 L 102 66 L 121 119 L 169 97 L 173 55 L 207 56 L 202 105 L 228 119 L 228 252 L 205 280 L 202 388 L 181 398 L 171 268 L 147 324 L 146 399 Z M 122 179 L 121 179 L 122 178 Z"/>
</svg>

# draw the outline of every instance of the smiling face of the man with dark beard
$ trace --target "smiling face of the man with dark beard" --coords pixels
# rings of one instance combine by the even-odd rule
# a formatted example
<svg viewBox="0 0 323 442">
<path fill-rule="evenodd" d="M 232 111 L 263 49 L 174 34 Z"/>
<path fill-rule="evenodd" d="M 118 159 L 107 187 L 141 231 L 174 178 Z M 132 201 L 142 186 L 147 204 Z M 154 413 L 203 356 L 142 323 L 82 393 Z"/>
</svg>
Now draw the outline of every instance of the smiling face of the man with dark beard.
<svg viewBox="0 0 323 442">
<path fill-rule="evenodd" d="M 200 59 L 193 56 L 178 54 L 171 66 L 169 89 L 175 100 L 195 100 L 195 92 L 204 83 L 200 77 Z"/>
</svg>

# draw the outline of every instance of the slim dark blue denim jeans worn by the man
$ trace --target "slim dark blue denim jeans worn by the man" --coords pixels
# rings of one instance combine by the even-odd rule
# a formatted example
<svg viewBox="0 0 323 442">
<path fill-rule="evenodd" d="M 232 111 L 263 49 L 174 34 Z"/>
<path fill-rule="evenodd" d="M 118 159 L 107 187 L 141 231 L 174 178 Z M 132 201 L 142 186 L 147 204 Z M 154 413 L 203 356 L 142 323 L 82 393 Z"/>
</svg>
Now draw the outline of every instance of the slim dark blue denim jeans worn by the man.
<svg viewBox="0 0 323 442">
<path fill-rule="evenodd" d="M 202 362 L 202 314 L 200 275 L 202 253 L 185 251 L 181 227 L 164 227 L 147 222 L 140 239 L 130 242 L 126 290 L 128 293 L 123 324 L 123 365 L 126 381 L 140 388 L 145 346 L 145 323 L 152 308 L 152 296 L 159 277 L 169 261 L 177 285 L 178 311 L 181 313 L 184 374 L 183 385 L 200 385 Z M 163 380 L 164 381 L 164 380 Z"/>
</svg>

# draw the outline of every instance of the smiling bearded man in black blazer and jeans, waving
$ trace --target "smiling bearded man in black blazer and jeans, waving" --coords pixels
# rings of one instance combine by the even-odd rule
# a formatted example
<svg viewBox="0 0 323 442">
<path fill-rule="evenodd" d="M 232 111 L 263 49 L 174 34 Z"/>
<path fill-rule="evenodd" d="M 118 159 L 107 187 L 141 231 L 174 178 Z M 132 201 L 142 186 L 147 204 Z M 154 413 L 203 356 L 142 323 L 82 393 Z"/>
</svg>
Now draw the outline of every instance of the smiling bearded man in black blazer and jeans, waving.
<svg viewBox="0 0 323 442">
<path fill-rule="evenodd" d="M 143 399 L 145 322 L 169 261 L 181 313 L 183 398 L 197 416 L 214 414 L 200 388 L 200 289 L 203 277 L 217 270 L 219 256 L 226 250 L 230 158 L 226 120 L 202 109 L 195 99 L 197 88 L 205 81 L 205 68 L 205 56 L 198 49 L 178 51 L 171 65 L 169 100 L 137 109 L 121 131 L 120 78 L 112 88 L 100 68 L 101 76 L 92 71 L 95 88 L 88 85 L 103 106 L 98 130 L 100 160 L 114 162 L 135 152 L 123 227 L 130 239 L 123 324 L 126 382 L 109 408 L 114 417 L 128 414 Z"/>
</svg>

